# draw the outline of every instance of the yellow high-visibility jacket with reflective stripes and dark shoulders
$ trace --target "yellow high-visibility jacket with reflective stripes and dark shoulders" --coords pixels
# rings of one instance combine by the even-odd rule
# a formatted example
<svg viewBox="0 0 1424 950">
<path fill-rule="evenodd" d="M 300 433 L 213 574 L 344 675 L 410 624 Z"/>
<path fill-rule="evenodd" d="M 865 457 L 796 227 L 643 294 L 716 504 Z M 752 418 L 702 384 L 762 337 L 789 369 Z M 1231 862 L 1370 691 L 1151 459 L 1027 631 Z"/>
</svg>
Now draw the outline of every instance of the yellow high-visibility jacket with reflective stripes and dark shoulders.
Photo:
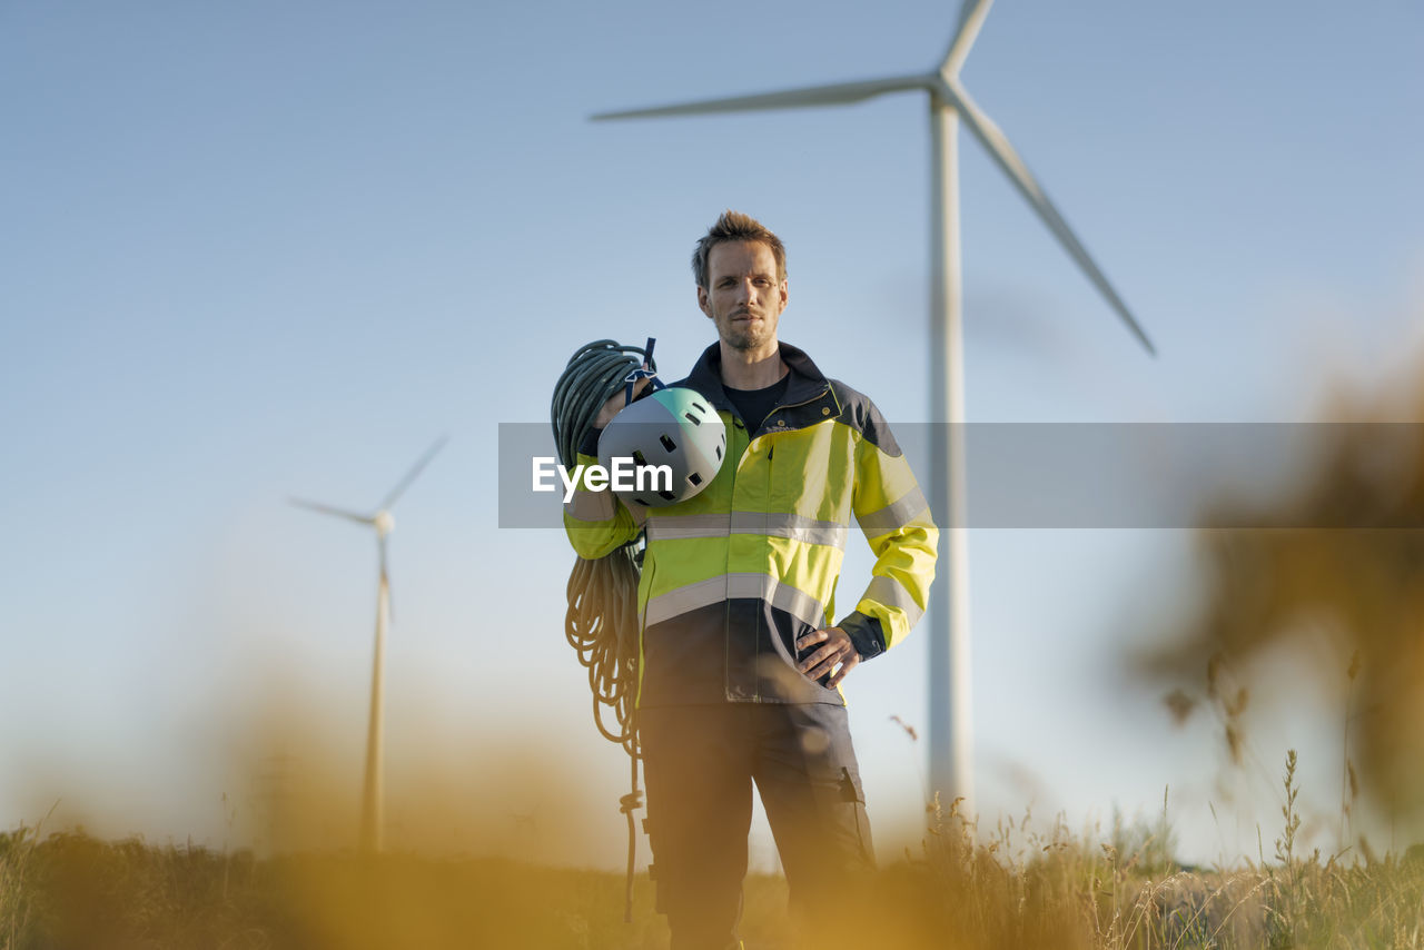
<svg viewBox="0 0 1424 950">
<path fill-rule="evenodd" d="M 702 393 L 728 430 L 726 460 L 702 493 L 634 511 L 611 491 L 580 486 L 565 506 L 564 527 L 584 558 L 646 531 L 641 706 L 843 704 L 839 689 L 796 669 L 796 640 L 833 625 L 852 517 L 876 563 L 854 611 L 834 625 L 869 658 L 924 612 L 938 530 L 889 426 L 799 349 L 782 343 L 780 357 L 790 367 L 786 395 L 756 432 L 722 390 L 718 345 L 676 383 Z"/>
</svg>

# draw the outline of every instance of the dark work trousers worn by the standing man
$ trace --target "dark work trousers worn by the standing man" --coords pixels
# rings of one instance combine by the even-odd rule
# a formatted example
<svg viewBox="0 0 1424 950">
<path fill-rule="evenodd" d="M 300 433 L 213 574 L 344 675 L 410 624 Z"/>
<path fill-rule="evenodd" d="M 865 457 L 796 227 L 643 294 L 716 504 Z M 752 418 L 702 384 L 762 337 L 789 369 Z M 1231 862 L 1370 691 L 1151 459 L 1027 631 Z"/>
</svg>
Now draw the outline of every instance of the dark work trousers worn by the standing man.
<svg viewBox="0 0 1424 950">
<path fill-rule="evenodd" d="M 639 711 L 638 729 L 658 910 L 668 914 L 672 950 L 738 946 L 753 782 L 793 910 L 849 896 L 874 867 L 844 706 L 665 706 Z"/>
</svg>

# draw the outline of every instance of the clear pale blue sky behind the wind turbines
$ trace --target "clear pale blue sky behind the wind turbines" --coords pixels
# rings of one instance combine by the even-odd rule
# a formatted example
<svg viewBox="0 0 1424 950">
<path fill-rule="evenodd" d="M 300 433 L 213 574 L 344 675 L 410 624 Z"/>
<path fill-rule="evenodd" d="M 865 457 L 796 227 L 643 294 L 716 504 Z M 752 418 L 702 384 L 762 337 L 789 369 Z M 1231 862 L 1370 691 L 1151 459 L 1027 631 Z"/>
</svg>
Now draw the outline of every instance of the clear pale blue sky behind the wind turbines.
<svg viewBox="0 0 1424 950">
<path fill-rule="evenodd" d="M 789 246 L 782 338 L 926 420 L 918 95 L 587 117 L 927 70 L 957 4 L 490 7 L 0 9 L 0 826 L 64 796 L 110 833 L 212 839 L 219 796 L 249 796 L 241 724 L 283 689 L 349 726 L 355 795 L 375 546 L 285 499 L 372 506 L 444 432 L 396 510 L 390 781 L 520 722 L 580 749 L 615 823 L 621 753 L 561 632 L 571 554 L 496 528 L 496 426 L 545 419 L 590 339 L 655 335 L 681 375 L 712 339 L 686 259 L 726 207 Z M 1334 379 L 1417 366 L 1421 50 L 1400 1 L 997 4 L 965 84 L 1161 359 L 965 138 L 971 420 L 1303 420 Z M 1116 675 L 1190 604 L 1188 533 L 978 530 L 971 555 L 990 822 L 1152 812 L 1171 785 L 1183 850 L 1216 856 L 1208 802 L 1269 836 L 1265 781 L 1223 808 L 1206 724 Z M 886 823 L 920 755 L 887 716 L 923 725 L 924 682 L 923 638 L 847 681 Z M 1259 746 L 1273 771 L 1302 748 L 1330 815 L 1312 708 L 1263 715 Z"/>
</svg>

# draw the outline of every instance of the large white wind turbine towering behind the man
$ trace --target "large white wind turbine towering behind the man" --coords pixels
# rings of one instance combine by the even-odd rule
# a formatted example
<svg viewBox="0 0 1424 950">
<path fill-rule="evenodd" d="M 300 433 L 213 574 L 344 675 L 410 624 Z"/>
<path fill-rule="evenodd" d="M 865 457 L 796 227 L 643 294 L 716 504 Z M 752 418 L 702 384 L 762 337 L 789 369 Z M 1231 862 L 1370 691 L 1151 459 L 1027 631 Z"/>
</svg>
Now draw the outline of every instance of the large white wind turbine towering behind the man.
<svg viewBox="0 0 1424 950">
<path fill-rule="evenodd" d="M 930 101 L 930 352 L 933 432 L 930 504 L 947 524 L 944 564 L 930 593 L 930 789 L 963 796 L 974 813 L 973 726 L 968 634 L 968 528 L 964 466 L 964 345 L 960 276 L 958 124 L 988 151 L 1068 255 L 1106 298 L 1134 336 L 1156 355 L 1152 340 L 1108 283 L 1087 248 L 1030 174 L 1004 132 L 960 81 L 960 68 L 993 0 L 965 0 L 948 53 L 930 73 L 833 83 L 805 88 L 703 100 L 678 105 L 600 113 L 594 120 L 705 115 L 748 110 L 843 105 L 886 93 L 923 91 Z"/>
</svg>

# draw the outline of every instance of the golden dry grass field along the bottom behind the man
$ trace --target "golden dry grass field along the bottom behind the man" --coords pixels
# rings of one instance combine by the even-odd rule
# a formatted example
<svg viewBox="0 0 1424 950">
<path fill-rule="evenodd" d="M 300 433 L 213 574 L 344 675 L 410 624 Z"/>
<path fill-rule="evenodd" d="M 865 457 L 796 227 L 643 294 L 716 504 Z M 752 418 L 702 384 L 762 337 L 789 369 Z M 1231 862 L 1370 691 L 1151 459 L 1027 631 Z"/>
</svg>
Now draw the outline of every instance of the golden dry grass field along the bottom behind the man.
<svg viewBox="0 0 1424 950">
<path fill-rule="evenodd" d="M 1296 850 L 1294 755 L 1273 853 L 1232 869 L 1171 859 L 1166 815 L 1106 840 L 1001 825 L 970 833 L 931 809 L 918 853 L 803 922 L 805 946 L 1424 947 L 1424 862 Z M 0 949 L 668 946 L 641 876 L 503 859 L 350 853 L 253 859 L 84 833 L 0 835 Z M 793 947 L 785 882 L 748 879 L 749 950 Z"/>
</svg>

